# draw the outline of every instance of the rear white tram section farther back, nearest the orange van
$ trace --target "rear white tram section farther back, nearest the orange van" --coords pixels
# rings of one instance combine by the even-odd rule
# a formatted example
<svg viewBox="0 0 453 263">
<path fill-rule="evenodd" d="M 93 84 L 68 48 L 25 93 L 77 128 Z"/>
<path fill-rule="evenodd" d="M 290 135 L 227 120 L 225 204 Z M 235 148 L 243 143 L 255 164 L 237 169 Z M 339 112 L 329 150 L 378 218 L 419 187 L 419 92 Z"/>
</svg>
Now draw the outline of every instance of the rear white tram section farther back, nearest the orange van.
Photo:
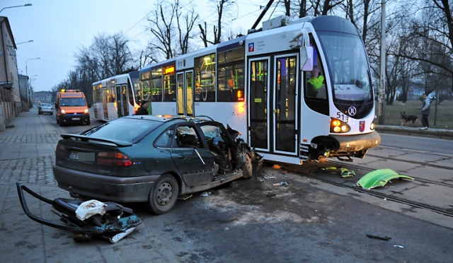
<svg viewBox="0 0 453 263">
<path fill-rule="evenodd" d="M 142 90 L 139 87 L 139 71 L 131 71 L 102 81 L 93 86 L 94 118 L 110 121 L 133 115 L 139 107 Z"/>
</svg>

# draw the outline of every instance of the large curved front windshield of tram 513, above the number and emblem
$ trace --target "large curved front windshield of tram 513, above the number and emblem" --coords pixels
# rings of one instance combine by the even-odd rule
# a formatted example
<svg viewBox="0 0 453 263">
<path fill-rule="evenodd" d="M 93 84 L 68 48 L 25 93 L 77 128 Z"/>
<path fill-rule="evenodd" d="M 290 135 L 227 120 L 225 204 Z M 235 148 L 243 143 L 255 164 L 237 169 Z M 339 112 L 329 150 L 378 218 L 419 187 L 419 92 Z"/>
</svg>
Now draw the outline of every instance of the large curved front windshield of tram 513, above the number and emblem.
<svg viewBox="0 0 453 263">
<path fill-rule="evenodd" d="M 319 32 L 319 40 L 327 57 L 333 103 L 342 112 L 347 112 L 353 105 L 360 117 L 367 115 L 372 110 L 373 90 L 367 54 L 360 36 Z"/>
</svg>

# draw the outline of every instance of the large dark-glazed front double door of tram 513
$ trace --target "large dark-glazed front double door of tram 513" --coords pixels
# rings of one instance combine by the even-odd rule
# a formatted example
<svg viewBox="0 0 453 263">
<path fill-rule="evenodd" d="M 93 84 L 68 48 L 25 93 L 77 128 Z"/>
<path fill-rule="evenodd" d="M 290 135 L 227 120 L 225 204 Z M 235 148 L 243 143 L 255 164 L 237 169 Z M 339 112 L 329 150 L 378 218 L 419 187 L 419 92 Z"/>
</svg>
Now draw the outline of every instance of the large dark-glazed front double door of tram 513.
<svg viewBox="0 0 453 263">
<path fill-rule="evenodd" d="M 270 61 L 248 62 L 249 141 L 261 151 L 297 154 L 297 54 L 273 57 L 272 69 Z"/>
</svg>

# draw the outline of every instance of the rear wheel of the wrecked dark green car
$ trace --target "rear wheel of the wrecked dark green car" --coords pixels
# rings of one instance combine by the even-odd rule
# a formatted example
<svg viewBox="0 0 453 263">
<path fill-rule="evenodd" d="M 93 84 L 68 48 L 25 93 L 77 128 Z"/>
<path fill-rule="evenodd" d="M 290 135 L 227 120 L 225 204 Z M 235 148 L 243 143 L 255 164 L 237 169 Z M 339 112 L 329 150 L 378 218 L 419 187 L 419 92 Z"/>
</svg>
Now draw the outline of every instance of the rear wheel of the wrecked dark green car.
<svg viewBox="0 0 453 263">
<path fill-rule="evenodd" d="M 176 204 L 179 186 L 175 177 L 161 175 L 149 192 L 147 208 L 154 214 L 165 214 Z"/>
</svg>

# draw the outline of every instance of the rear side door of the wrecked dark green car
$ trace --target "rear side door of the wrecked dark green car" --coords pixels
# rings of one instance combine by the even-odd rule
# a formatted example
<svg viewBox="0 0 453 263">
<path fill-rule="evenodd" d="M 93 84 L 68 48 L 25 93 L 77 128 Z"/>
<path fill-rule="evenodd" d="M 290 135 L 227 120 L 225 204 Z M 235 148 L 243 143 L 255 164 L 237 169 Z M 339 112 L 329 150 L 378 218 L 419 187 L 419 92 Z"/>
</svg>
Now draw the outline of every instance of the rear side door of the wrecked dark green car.
<svg viewBox="0 0 453 263">
<path fill-rule="evenodd" d="M 205 185 L 214 176 L 214 157 L 198 133 L 195 124 L 176 127 L 171 145 L 171 158 L 188 186 Z"/>
</svg>

